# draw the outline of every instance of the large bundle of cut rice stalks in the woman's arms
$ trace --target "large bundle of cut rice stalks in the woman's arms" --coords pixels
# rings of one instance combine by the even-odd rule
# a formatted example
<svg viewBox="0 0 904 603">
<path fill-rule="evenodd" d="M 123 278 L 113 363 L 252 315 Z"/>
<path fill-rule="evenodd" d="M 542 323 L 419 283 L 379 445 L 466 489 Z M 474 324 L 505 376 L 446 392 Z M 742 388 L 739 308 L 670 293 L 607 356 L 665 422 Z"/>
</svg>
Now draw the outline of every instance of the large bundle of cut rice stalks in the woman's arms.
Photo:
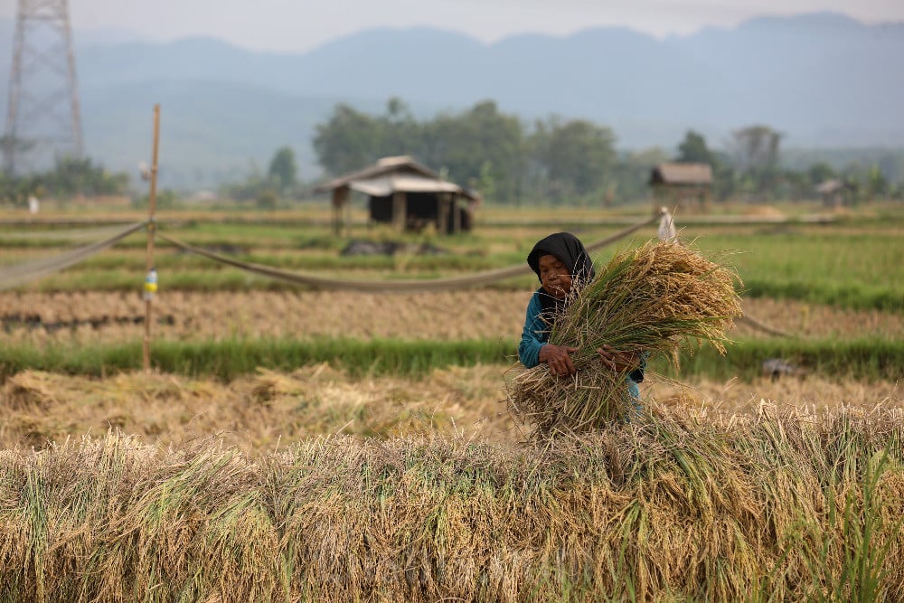
<svg viewBox="0 0 904 603">
<path fill-rule="evenodd" d="M 573 291 L 552 320 L 550 343 L 578 348 L 577 372 L 556 377 L 545 364 L 508 383 L 513 417 L 532 423 L 534 437 L 599 429 L 636 408 L 626 373 L 601 362 L 604 344 L 647 361 L 675 366 L 683 348 L 712 344 L 725 353 L 725 333 L 741 316 L 736 275 L 677 242 L 650 241 L 617 254 L 587 287 Z"/>
</svg>

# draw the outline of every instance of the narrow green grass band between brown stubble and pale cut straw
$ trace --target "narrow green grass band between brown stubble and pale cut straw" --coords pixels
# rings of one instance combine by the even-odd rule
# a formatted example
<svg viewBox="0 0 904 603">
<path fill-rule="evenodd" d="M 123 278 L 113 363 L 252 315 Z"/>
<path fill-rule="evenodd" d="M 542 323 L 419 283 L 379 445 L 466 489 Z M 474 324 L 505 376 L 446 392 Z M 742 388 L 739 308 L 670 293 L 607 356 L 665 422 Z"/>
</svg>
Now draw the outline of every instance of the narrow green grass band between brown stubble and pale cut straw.
<svg viewBox="0 0 904 603">
<path fill-rule="evenodd" d="M 505 339 L 405 341 L 400 339 L 255 339 L 228 337 L 203 341 L 155 341 L 151 345 L 156 370 L 212 376 L 231 381 L 259 368 L 292 371 L 330 363 L 353 375 L 423 376 L 433 369 L 476 364 L 510 365 L 517 342 Z M 721 356 L 703 348 L 684 353 L 676 371 L 664 360 L 651 372 L 682 379 L 751 381 L 762 375 L 762 363 L 782 358 L 802 369 L 837 379 L 896 381 L 904 378 L 904 341 L 887 339 L 806 340 L 749 339 L 730 345 Z M 0 378 L 27 369 L 95 377 L 140 369 L 142 344 L 10 344 L 0 348 Z"/>
</svg>

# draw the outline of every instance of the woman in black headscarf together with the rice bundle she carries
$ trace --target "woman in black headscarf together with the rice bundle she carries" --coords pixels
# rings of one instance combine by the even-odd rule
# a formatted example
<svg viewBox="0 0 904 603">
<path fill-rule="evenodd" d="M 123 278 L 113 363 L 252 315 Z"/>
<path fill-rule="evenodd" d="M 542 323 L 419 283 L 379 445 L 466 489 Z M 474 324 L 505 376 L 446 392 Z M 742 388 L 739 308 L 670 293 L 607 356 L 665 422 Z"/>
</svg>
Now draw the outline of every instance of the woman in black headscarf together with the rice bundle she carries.
<svg viewBox="0 0 904 603">
<path fill-rule="evenodd" d="M 673 240 L 617 253 L 597 275 L 580 241 L 558 233 L 534 246 L 528 264 L 542 287 L 519 347 L 528 368 L 508 383 L 508 406 L 535 438 L 626 418 L 647 358 L 661 354 L 677 368 L 683 347 L 725 353 L 741 314 L 734 273 Z"/>
</svg>

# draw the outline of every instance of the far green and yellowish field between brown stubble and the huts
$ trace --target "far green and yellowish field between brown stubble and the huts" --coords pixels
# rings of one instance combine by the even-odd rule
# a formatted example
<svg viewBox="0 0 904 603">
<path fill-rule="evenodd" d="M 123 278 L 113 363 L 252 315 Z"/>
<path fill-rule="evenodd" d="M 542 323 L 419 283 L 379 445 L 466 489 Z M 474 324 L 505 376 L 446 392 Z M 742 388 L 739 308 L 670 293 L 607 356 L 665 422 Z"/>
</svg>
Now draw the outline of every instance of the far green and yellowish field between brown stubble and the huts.
<svg viewBox="0 0 904 603">
<path fill-rule="evenodd" d="M 896 220 L 882 224 L 840 221 L 818 226 L 770 227 L 695 224 L 685 229 L 683 236 L 695 240 L 696 245 L 708 253 L 739 250 L 730 257 L 730 263 L 745 284 L 745 296 L 901 312 L 904 311 L 904 294 L 895 285 L 904 282 L 904 265 L 898 260 L 902 233 L 900 222 Z M 339 250 L 351 238 L 381 240 L 389 236 L 382 231 L 361 231 L 352 237 L 334 238 L 322 225 L 300 224 L 293 229 L 268 223 L 251 224 L 246 228 L 240 224 L 200 221 L 165 231 L 177 239 L 201 246 L 229 246 L 241 251 L 240 259 L 281 269 L 329 271 L 337 277 L 351 273 L 355 278 L 379 279 L 435 278 L 517 264 L 523 262 L 532 243 L 548 234 L 550 228 L 542 224 L 517 229 L 486 226 L 451 238 L 393 234 L 391 240 L 407 240 L 412 244 L 430 241 L 449 253 L 378 258 L 341 257 Z M 617 227 L 590 224 L 574 230 L 582 240 L 589 242 L 611 234 Z M 653 235 L 652 229 L 649 235 Z M 636 237 L 634 242 L 643 240 L 645 237 Z M 27 239 L 3 242 L 4 249 L 8 250 L 14 250 L 18 245 L 36 244 Z M 143 278 L 145 245 L 143 237 L 129 237 L 113 250 L 22 288 L 127 290 Z M 233 274 L 235 270 L 223 269 L 212 260 L 173 253 L 163 244 L 158 248 L 156 263 L 161 272 L 161 283 L 170 290 L 297 287 L 271 278 L 238 278 Z M 63 248 L 28 249 L 29 253 L 39 250 L 54 253 Z M 611 253 L 612 250 L 603 250 L 598 255 L 598 263 L 607 261 Z M 531 287 L 534 282 L 530 276 L 513 278 L 500 282 L 498 287 L 521 289 Z"/>
</svg>

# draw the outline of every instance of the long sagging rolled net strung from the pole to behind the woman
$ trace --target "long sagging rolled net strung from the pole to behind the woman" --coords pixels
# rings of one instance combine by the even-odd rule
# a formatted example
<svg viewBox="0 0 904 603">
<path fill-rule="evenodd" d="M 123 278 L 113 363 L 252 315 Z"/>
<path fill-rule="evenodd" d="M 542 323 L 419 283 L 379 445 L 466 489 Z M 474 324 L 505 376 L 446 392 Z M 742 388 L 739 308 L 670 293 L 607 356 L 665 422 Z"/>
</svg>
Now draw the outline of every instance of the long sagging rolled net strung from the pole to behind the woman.
<svg viewBox="0 0 904 603">
<path fill-rule="evenodd" d="M 595 241 L 585 247 L 587 250 L 598 250 L 602 247 L 610 245 L 617 240 L 624 239 L 626 236 L 633 234 L 634 232 L 639 231 L 645 226 L 649 226 L 650 224 L 653 224 L 654 222 L 657 222 L 659 220 L 660 217 L 657 215 L 648 220 L 640 221 L 632 226 L 627 227 L 626 229 L 623 229 L 622 231 L 618 231 L 616 234 L 607 237 L 606 239 Z M 495 281 L 504 278 L 520 277 L 523 274 L 527 274 L 531 270 L 530 267 L 527 266 L 527 264 L 519 264 L 517 266 L 510 266 L 502 269 L 485 270 L 483 272 L 478 272 L 476 274 L 470 274 L 463 277 L 431 278 L 429 280 L 378 281 L 355 280 L 347 278 L 325 278 L 310 273 L 280 270 L 269 266 L 264 266 L 262 264 L 254 264 L 250 262 L 243 262 L 238 259 L 227 258 L 213 251 L 205 250 L 201 247 L 195 247 L 194 245 L 184 243 L 181 240 L 176 240 L 173 237 L 166 236 L 159 231 L 156 232 L 156 236 L 169 243 L 172 243 L 182 250 L 203 256 L 208 259 L 213 259 L 214 261 L 219 261 L 223 264 L 228 264 L 229 266 L 233 266 L 238 269 L 248 270 L 250 272 L 254 272 L 256 274 L 270 278 L 287 280 L 299 285 L 307 285 L 310 287 L 332 290 L 361 291 L 368 293 L 417 293 L 448 291 L 462 287 L 480 287 L 494 283 Z"/>
</svg>

